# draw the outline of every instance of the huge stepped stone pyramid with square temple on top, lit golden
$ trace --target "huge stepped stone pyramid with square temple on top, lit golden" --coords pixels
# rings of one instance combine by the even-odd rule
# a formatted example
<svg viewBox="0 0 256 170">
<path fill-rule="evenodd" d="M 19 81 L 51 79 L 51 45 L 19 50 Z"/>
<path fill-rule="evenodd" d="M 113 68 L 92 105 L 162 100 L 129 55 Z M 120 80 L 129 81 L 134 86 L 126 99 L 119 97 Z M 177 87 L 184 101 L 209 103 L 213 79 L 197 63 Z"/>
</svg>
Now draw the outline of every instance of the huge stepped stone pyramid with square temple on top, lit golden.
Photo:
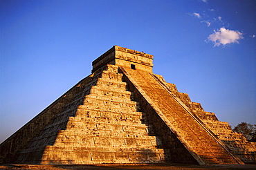
<svg viewBox="0 0 256 170">
<path fill-rule="evenodd" d="M 244 164 L 256 145 L 152 72 L 153 56 L 113 46 L 92 74 L 0 145 L 19 164 Z"/>
</svg>

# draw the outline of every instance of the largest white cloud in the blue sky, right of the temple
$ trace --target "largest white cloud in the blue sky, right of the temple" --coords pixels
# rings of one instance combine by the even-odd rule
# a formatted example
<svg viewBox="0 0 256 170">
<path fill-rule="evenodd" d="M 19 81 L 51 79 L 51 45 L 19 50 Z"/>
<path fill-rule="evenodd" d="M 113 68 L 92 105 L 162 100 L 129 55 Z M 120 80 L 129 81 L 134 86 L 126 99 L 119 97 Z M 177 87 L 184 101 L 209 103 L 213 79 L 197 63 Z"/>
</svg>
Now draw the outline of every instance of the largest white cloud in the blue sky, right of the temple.
<svg viewBox="0 0 256 170">
<path fill-rule="evenodd" d="M 243 34 L 237 30 L 228 30 L 224 27 L 219 30 L 214 30 L 214 33 L 209 35 L 208 40 L 214 43 L 214 46 L 226 46 L 226 44 L 237 43 L 239 39 L 243 39 Z"/>
</svg>

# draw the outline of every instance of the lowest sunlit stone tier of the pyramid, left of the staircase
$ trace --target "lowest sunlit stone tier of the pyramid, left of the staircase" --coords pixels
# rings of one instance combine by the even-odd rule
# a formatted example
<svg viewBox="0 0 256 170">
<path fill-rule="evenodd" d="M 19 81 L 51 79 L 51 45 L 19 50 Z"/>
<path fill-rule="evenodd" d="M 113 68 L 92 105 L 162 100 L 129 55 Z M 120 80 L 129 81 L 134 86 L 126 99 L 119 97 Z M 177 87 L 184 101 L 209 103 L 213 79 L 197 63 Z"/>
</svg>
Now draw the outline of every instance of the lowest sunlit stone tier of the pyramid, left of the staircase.
<svg viewBox="0 0 256 170">
<path fill-rule="evenodd" d="M 66 151 L 63 152 L 63 149 Z M 86 148 L 77 147 L 71 148 L 69 151 L 66 148 L 48 146 L 43 157 L 42 164 L 51 162 L 51 158 L 57 159 L 55 163 L 61 164 L 98 164 L 98 163 L 160 163 L 165 160 L 165 152 L 154 152 L 151 149 L 140 149 L 140 151 L 86 151 Z"/>
</svg>

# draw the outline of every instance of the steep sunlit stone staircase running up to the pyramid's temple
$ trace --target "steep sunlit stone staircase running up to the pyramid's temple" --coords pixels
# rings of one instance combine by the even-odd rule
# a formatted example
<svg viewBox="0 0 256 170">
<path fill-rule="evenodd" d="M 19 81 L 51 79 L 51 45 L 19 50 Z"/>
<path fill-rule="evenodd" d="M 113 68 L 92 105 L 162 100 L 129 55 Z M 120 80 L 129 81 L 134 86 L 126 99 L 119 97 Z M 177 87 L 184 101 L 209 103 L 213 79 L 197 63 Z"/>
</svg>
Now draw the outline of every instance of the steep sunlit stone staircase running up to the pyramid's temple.
<svg viewBox="0 0 256 170">
<path fill-rule="evenodd" d="M 199 164 L 243 164 L 205 129 L 200 120 L 186 111 L 185 106 L 152 73 L 130 68 L 121 70 L 136 88 L 140 88 L 138 91 L 152 104 Z"/>
</svg>

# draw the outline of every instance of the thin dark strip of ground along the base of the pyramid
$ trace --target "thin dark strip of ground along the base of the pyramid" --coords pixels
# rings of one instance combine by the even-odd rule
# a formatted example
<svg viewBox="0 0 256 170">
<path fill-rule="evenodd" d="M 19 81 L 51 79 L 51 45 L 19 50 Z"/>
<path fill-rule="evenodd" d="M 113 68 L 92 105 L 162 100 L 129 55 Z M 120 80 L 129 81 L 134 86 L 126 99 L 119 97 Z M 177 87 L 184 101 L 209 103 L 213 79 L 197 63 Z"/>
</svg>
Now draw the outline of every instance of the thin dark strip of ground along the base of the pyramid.
<svg viewBox="0 0 256 170">
<path fill-rule="evenodd" d="M 39 169 L 39 170 L 128 170 L 128 169 L 256 169 L 256 164 L 221 164 L 221 165 L 189 165 L 189 164 L 93 164 L 93 165 L 38 165 L 38 164 L 0 164 L 0 169 Z"/>
</svg>

